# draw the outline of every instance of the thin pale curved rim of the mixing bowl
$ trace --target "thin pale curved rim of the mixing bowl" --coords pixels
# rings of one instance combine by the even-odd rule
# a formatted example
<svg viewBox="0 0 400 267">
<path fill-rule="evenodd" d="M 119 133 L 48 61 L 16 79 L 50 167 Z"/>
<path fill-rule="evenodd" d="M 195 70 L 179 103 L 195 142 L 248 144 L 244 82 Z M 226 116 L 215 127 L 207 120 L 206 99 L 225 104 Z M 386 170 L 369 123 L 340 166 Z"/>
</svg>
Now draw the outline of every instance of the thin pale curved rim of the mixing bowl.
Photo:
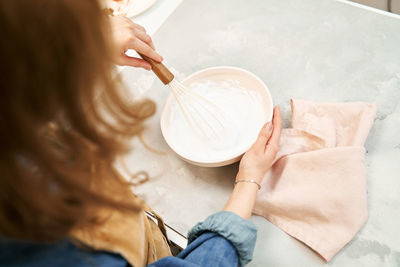
<svg viewBox="0 0 400 267">
<path fill-rule="evenodd" d="M 192 79 L 194 76 L 200 75 L 203 72 L 209 72 L 209 71 L 214 71 L 214 70 L 234 70 L 234 71 L 239 71 L 242 73 L 245 73 L 246 75 L 251 76 L 252 78 L 254 78 L 258 83 L 260 83 L 262 85 L 262 87 L 265 90 L 265 93 L 268 96 L 268 99 L 270 101 L 271 104 L 271 108 L 270 108 L 270 112 L 269 112 L 269 117 L 266 119 L 265 123 L 268 121 L 272 120 L 272 113 L 273 113 L 273 102 L 272 102 L 272 96 L 271 93 L 269 91 L 268 86 L 254 73 L 251 73 L 248 70 L 239 68 L 239 67 L 234 67 L 234 66 L 215 66 L 215 67 L 209 67 L 209 68 L 205 68 L 199 71 L 196 71 L 192 74 L 190 74 L 189 76 L 187 76 L 185 79 L 183 79 L 181 81 L 181 83 L 185 83 L 186 81 Z M 237 161 L 239 161 L 241 159 L 241 157 L 243 156 L 243 154 L 250 149 L 251 145 L 249 147 L 247 147 L 244 151 L 239 151 L 238 153 L 235 154 L 231 154 L 228 155 L 226 158 L 224 159 L 218 159 L 218 161 L 216 160 L 204 160 L 204 161 L 199 161 L 199 160 L 194 160 L 194 159 L 190 159 L 189 157 L 186 157 L 185 155 L 181 155 L 180 153 L 178 153 L 178 151 L 176 151 L 173 147 L 173 145 L 170 144 L 170 142 L 168 141 L 168 138 L 166 138 L 166 129 L 164 128 L 164 123 L 163 121 L 165 120 L 165 116 L 166 116 L 166 109 L 167 106 L 170 105 L 171 101 L 173 99 L 173 95 L 170 93 L 167 97 L 167 99 L 165 100 L 164 106 L 162 108 L 161 111 L 161 116 L 160 116 L 160 127 L 161 127 L 161 133 L 164 137 L 165 142 L 168 144 L 168 146 L 171 148 L 172 151 L 175 152 L 175 154 L 177 154 L 180 158 L 182 158 L 183 160 L 185 160 L 186 162 L 189 162 L 191 164 L 194 165 L 198 165 L 198 166 L 204 166 L 204 167 L 220 167 L 220 166 L 225 166 L 225 165 L 229 165 L 229 164 L 233 164 Z M 255 140 L 254 140 L 255 141 Z"/>
</svg>

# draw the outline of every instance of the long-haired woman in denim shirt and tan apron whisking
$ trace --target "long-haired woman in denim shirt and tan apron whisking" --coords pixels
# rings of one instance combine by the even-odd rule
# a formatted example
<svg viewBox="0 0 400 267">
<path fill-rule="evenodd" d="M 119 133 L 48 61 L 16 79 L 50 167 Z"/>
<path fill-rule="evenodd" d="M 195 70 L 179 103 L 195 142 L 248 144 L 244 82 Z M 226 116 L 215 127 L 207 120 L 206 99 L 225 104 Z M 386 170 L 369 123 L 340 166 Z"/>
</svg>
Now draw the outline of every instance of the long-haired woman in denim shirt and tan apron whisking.
<svg viewBox="0 0 400 267">
<path fill-rule="evenodd" d="M 150 100 L 124 101 L 112 74 L 115 63 L 151 68 L 127 49 L 162 60 L 145 30 L 109 19 L 96 0 L 0 0 L 0 32 L 1 266 L 251 260 L 256 228 L 248 219 L 277 152 L 279 109 L 243 156 L 223 210 L 198 223 L 188 247 L 172 257 L 145 215 L 150 208 L 112 165 L 155 109 Z"/>
</svg>

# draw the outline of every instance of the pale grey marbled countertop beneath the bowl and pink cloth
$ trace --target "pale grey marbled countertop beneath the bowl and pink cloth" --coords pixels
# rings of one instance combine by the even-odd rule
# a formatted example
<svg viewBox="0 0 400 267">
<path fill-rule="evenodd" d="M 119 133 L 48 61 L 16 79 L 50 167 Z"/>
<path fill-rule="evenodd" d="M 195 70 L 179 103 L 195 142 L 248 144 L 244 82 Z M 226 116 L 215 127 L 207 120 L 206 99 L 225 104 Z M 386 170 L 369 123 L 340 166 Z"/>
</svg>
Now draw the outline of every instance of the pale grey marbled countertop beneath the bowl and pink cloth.
<svg viewBox="0 0 400 267">
<path fill-rule="evenodd" d="M 377 102 L 366 143 L 369 218 L 329 263 L 266 219 L 250 266 L 400 266 L 400 19 L 332 0 L 185 0 L 153 35 L 178 78 L 212 66 L 237 66 L 259 76 L 290 125 L 290 98 Z M 182 234 L 219 211 L 238 165 L 202 168 L 180 160 L 159 126 L 169 91 L 152 73 L 126 68 L 139 97 L 158 104 L 125 161 L 151 179 L 134 190 Z"/>
</svg>

